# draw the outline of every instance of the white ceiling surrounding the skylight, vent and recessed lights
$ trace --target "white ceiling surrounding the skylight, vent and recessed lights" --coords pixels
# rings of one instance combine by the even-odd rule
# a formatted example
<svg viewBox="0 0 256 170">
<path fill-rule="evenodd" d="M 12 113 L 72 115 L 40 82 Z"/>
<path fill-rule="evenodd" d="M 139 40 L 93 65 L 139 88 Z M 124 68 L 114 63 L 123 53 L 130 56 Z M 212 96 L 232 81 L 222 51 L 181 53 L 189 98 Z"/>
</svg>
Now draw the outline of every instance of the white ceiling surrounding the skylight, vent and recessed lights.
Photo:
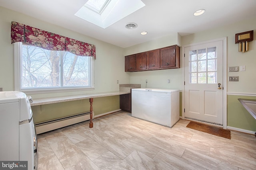
<svg viewBox="0 0 256 170">
<path fill-rule="evenodd" d="M 142 0 L 146 6 L 104 29 L 74 16 L 86 2 L 0 0 L 0 6 L 124 48 L 173 33 L 184 36 L 256 18 L 256 0 Z M 202 16 L 193 16 L 199 9 L 206 12 Z M 126 29 L 129 22 L 137 23 L 138 27 Z M 141 31 L 148 34 L 140 35 Z"/>
</svg>

